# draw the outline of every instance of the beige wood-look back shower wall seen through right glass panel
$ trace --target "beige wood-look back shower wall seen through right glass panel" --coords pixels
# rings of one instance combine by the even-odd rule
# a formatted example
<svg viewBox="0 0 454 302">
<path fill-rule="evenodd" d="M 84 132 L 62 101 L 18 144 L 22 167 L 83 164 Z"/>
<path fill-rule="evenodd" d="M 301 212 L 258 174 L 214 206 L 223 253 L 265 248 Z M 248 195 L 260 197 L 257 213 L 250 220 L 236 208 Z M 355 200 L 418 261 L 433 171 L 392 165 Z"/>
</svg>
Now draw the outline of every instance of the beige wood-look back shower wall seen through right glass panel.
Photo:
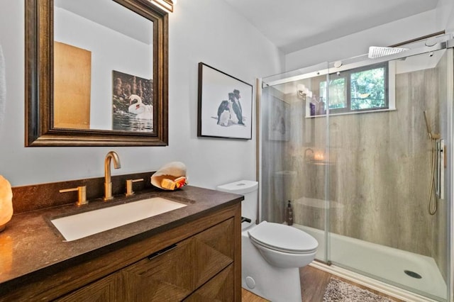
<svg viewBox="0 0 454 302">
<path fill-rule="evenodd" d="M 334 233 L 431 256 L 423 110 L 433 112 L 437 97 L 427 79 L 436 79 L 434 70 L 397 76 L 396 111 L 331 117 L 343 133 L 330 137 L 340 168 L 331 186 L 344 206 L 331 211 Z"/>
</svg>

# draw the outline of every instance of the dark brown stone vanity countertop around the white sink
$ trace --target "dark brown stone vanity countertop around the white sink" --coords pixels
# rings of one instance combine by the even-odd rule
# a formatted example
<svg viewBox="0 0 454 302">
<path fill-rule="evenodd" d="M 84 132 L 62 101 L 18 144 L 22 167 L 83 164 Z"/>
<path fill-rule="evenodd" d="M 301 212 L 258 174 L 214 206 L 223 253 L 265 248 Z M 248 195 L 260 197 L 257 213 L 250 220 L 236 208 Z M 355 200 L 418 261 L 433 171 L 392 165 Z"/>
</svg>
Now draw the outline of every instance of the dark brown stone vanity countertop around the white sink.
<svg viewBox="0 0 454 302">
<path fill-rule="evenodd" d="M 50 222 L 50 218 L 58 216 L 155 196 L 178 201 L 187 206 L 70 242 L 65 242 Z M 135 237 L 151 236 L 184 225 L 242 200 L 243 196 L 236 194 L 184 186 L 176 191 L 148 189 L 128 198 L 116 196 L 113 201 L 106 203 L 99 198 L 81 208 L 71 204 L 13 215 L 4 232 L 0 233 L 0 287 L 2 283 L 70 260 L 77 260 L 77 257 L 103 249 L 113 249 L 118 244 L 134 240 Z"/>
</svg>

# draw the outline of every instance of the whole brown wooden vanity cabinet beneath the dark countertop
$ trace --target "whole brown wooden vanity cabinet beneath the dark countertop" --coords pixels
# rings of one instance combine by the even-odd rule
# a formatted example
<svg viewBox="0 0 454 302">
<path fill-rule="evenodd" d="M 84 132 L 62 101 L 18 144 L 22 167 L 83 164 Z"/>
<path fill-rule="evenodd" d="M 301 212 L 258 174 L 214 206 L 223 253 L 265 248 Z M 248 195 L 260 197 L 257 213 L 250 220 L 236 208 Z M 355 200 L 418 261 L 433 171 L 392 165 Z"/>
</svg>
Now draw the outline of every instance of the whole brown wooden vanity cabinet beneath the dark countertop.
<svg viewBox="0 0 454 302">
<path fill-rule="evenodd" d="M 118 262 L 107 275 L 87 271 L 87 278 L 98 276 L 89 284 L 77 288 L 65 284 L 61 289 L 64 292 L 53 288 L 35 298 L 45 301 L 240 302 L 240 228 L 238 203 L 80 264 L 74 269 L 83 274 L 90 265 L 95 265 L 96 271 L 97 265 L 109 266 L 114 259 L 118 262 L 118 257 L 125 257 L 123 264 Z M 156 249 L 144 255 L 144 251 L 153 246 Z"/>
</svg>

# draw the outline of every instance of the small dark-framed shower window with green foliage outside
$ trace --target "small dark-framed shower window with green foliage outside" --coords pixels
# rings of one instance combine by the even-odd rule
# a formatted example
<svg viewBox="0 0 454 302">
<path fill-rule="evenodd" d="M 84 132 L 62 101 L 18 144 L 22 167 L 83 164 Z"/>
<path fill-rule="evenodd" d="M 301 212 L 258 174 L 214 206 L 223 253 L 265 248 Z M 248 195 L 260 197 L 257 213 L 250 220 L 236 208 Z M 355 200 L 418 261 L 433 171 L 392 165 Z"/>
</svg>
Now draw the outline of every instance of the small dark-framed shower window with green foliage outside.
<svg viewBox="0 0 454 302">
<path fill-rule="evenodd" d="M 348 113 L 389 108 L 388 65 L 372 65 L 329 75 L 331 113 Z M 326 99 L 326 80 L 319 83 L 319 95 Z"/>
</svg>

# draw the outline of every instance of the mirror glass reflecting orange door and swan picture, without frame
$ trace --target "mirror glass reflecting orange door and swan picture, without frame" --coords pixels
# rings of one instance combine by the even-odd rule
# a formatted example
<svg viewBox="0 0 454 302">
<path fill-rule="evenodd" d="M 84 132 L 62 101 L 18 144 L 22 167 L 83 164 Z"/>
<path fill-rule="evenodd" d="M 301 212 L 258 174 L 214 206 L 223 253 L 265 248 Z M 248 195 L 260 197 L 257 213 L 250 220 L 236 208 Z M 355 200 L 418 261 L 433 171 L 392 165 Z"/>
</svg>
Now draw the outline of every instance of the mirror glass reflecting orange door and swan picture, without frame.
<svg viewBox="0 0 454 302">
<path fill-rule="evenodd" d="M 111 0 L 54 2 L 54 127 L 153 133 L 153 22 Z"/>
</svg>

